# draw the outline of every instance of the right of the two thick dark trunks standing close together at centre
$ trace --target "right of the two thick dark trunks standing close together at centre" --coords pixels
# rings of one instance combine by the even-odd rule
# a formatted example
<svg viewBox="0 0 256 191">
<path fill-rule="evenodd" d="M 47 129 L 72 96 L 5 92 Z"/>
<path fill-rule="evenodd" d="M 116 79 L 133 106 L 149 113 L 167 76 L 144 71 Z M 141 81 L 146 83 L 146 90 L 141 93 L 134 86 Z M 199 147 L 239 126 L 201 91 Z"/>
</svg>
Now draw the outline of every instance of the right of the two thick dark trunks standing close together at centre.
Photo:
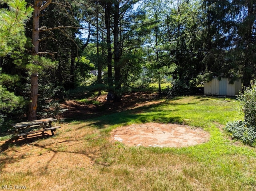
<svg viewBox="0 0 256 191">
<path fill-rule="evenodd" d="M 120 67 L 120 41 L 119 41 L 119 5 L 114 3 L 114 70 L 115 70 L 115 101 L 121 100 L 121 67 Z"/>
</svg>

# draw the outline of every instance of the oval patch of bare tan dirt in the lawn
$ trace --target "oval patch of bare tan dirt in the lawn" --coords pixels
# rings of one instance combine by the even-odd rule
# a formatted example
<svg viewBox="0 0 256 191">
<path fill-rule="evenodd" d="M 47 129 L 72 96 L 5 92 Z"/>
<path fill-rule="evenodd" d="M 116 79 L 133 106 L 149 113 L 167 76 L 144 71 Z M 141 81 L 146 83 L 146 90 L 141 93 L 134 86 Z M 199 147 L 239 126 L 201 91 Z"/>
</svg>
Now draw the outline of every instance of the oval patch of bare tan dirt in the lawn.
<svg viewBox="0 0 256 191">
<path fill-rule="evenodd" d="M 133 124 L 111 132 L 111 139 L 127 146 L 184 147 L 208 142 L 210 134 L 179 124 Z"/>
</svg>

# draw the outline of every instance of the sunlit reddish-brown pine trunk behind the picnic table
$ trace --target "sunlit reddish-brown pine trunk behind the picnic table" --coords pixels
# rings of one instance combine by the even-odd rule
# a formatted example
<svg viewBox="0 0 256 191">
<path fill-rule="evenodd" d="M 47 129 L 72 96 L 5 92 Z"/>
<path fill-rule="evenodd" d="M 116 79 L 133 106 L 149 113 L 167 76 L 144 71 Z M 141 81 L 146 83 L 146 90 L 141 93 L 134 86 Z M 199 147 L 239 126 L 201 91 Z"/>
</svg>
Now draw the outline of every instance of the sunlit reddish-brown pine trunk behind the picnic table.
<svg viewBox="0 0 256 191">
<path fill-rule="evenodd" d="M 42 4 L 42 1 L 34 1 L 34 13 L 33 13 L 33 29 L 32 29 L 32 55 L 38 55 L 39 50 L 39 16 L 40 11 L 44 10 L 51 0 Z M 36 120 L 36 108 L 37 108 L 37 98 L 38 98 L 38 71 L 33 71 L 31 74 L 31 95 L 30 104 L 28 105 L 28 120 Z"/>
</svg>

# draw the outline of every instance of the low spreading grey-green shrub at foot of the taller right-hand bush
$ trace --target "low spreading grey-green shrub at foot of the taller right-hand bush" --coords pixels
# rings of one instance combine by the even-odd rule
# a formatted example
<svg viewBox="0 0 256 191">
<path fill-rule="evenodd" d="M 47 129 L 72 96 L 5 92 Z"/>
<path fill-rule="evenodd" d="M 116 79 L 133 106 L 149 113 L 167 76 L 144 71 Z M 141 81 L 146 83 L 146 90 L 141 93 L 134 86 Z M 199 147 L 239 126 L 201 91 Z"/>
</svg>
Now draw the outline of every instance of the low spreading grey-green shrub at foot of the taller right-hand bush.
<svg viewBox="0 0 256 191">
<path fill-rule="evenodd" d="M 242 142 L 250 146 L 256 143 L 256 131 L 246 121 L 228 122 L 224 130 L 230 133 L 232 139 L 242 140 Z"/>
</svg>

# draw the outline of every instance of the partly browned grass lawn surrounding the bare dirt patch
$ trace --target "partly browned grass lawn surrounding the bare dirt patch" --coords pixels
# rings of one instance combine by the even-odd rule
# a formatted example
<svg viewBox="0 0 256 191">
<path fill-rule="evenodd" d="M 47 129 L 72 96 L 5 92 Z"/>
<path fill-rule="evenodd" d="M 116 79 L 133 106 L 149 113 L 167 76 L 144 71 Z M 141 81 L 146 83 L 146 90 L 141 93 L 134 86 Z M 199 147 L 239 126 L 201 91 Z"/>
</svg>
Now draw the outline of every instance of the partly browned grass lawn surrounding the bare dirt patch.
<svg viewBox="0 0 256 191">
<path fill-rule="evenodd" d="M 100 117 L 62 123 L 55 137 L 1 150 L 1 186 L 30 191 L 256 191 L 256 148 L 222 131 L 242 119 L 238 102 L 204 96 L 161 100 Z M 127 147 L 110 131 L 145 122 L 186 124 L 210 141 L 184 148 Z"/>
</svg>

